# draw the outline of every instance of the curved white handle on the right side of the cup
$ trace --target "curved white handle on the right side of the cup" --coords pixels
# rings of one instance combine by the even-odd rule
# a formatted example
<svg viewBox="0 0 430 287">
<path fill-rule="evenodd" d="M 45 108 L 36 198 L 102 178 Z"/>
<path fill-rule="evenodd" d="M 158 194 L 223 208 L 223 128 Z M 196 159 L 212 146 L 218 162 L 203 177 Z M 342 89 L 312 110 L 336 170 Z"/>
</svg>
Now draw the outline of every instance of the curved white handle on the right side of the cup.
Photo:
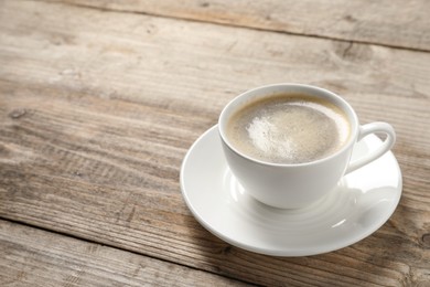
<svg viewBox="0 0 430 287">
<path fill-rule="evenodd" d="M 359 169 L 363 166 L 366 166 L 370 161 L 374 161 L 375 159 L 379 158 L 385 152 L 390 150 L 390 148 L 394 146 L 394 144 L 396 141 L 396 132 L 395 132 L 391 125 L 389 125 L 387 123 L 383 123 L 383 121 L 375 121 L 372 124 L 359 126 L 357 141 L 362 140 L 367 135 L 370 135 L 374 132 L 383 132 L 383 134 L 386 134 L 387 137 L 385 138 L 385 140 L 383 141 L 380 147 L 378 147 L 376 150 L 372 151 L 370 153 L 368 153 L 359 159 L 356 159 L 356 160 L 350 162 L 348 167 L 346 168 L 345 174 L 347 174 L 356 169 Z"/>
</svg>

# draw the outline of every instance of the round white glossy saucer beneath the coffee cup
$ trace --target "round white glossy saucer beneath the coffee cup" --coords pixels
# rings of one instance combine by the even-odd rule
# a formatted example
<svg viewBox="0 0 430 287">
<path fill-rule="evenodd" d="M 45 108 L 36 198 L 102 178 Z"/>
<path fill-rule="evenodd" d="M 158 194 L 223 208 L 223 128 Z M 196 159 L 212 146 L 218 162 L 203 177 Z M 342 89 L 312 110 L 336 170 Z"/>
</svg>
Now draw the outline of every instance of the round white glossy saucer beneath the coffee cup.
<svg viewBox="0 0 430 287">
<path fill-rule="evenodd" d="M 379 144 L 378 137 L 366 137 L 353 158 Z M 387 152 L 305 209 L 270 208 L 250 198 L 230 173 L 215 126 L 186 153 L 181 189 L 196 220 L 229 244 L 267 255 L 307 256 L 346 247 L 378 230 L 400 200 L 401 173 Z"/>
</svg>

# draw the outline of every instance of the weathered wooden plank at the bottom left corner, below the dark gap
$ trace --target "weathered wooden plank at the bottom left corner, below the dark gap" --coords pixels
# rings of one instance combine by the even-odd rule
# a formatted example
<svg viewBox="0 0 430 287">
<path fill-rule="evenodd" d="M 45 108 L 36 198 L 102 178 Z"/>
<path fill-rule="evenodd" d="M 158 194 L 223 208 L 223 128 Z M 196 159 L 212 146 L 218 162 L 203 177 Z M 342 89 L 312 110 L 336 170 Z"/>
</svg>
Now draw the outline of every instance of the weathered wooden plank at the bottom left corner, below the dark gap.
<svg viewBox="0 0 430 287">
<path fill-rule="evenodd" d="M 1 286 L 248 286 L 0 220 Z"/>
</svg>

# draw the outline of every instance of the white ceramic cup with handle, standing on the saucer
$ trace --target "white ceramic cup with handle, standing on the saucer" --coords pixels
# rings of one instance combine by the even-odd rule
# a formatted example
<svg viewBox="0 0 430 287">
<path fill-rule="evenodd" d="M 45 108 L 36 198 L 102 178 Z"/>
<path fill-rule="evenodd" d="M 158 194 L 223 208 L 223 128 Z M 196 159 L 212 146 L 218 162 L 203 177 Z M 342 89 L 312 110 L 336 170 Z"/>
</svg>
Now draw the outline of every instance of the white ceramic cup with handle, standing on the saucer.
<svg viewBox="0 0 430 287">
<path fill-rule="evenodd" d="M 351 135 L 343 147 L 323 159 L 298 164 L 266 162 L 238 151 L 226 136 L 230 116 L 248 103 L 286 93 L 324 98 L 340 107 L 351 124 Z M 245 191 L 258 201 L 280 209 L 298 209 L 315 202 L 333 190 L 344 174 L 379 158 L 396 140 L 389 124 L 376 121 L 361 126 L 354 109 L 343 98 L 330 91 L 301 84 L 276 84 L 245 92 L 225 106 L 218 130 L 229 169 Z M 384 132 L 387 137 L 376 150 L 351 162 L 356 142 L 374 132 Z"/>
</svg>

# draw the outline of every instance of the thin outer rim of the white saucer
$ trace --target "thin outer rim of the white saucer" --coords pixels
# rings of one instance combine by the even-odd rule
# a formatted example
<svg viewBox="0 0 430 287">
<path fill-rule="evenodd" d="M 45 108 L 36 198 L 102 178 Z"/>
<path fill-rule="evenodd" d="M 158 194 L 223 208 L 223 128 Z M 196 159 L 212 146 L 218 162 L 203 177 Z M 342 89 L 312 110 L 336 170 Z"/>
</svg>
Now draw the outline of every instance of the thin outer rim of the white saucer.
<svg viewBox="0 0 430 287">
<path fill-rule="evenodd" d="M 189 150 L 187 150 L 187 152 L 186 152 L 186 155 L 185 155 L 185 157 L 184 157 L 184 159 L 182 161 L 182 164 L 181 164 L 180 185 L 181 185 L 182 196 L 184 198 L 185 203 L 186 203 L 189 210 L 191 211 L 191 213 L 193 214 L 193 216 L 195 217 L 195 220 L 203 227 L 205 227 L 208 232 L 211 232 L 212 234 L 214 234 L 215 236 L 217 236 L 218 238 L 223 240 L 224 242 L 226 242 L 228 244 L 232 244 L 234 246 L 237 246 L 239 248 L 243 248 L 243 249 L 246 249 L 246 251 L 249 251 L 249 252 L 254 252 L 254 253 L 258 253 L 258 254 L 262 254 L 262 255 L 269 255 L 269 256 L 277 256 L 277 257 L 302 257 L 302 256 L 312 256 L 312 255 L 319 255 L 319 254 L 324 254 L 324 253 L 329 253 L 329 252 L 334 252 L 334 251 L 337 251 L 337 249 L 351 246 L 351 245 L 353 245 L 355 243 L 358 243 L 362 240 L 364 240 L 364 238 L 368 237 L 369 235 L 372 235 L 373 233 L 375 233 L 377 230 L 379 230 L 393 216 L 394 212 L 396 211 L 396 209 L 397 209 L 397 206 L 398 206 L 398 204 L 400 202 L 401 194 L 402 194 L 402 174 L 401 174 L 401 170 L 400 170 L 400 167 L 398 164 L 397 158 L 394 156 L 393 151 L 388 151 L 387 153 L 390 153 L 391 159 L 396 163 L 397 172 L 398 172 L 398 192 L 396 194 L 397 196 L 393 196 L 393 210 L 390 210 L 388 212 L 388 214 L 386 216 L 384 216 L 384 219 L 378 222 L 377 225 L 374 225 L 372 228 L 365 230 L 365 232 L 361 233 L 359 236 L 352 237 L 348 241 L 342 242 L 341 245 L 338 243 L 336 244 L 335 242 L 333 242 L 333 244 L 325 244 L 323 246 L 323 248 L 321 248 L 319 246 L 315 246 L 313 248 L 312 247 L 307 247 L 307 248 L 288 248 L 288 247 L 286 247 L 286 248 L 281 248 L 281 249 L 264 248 L 264 247 L 254 246 L 254 245 L 250 245 L 250 244 L 245 244 L 243 242 L 239 242 L 239 241 L 236 241 L 234 238 L 230 238 L 230 237 L 224 235 L 223 233 L 218 232 L 205 219 L 203 219 L 203 216 L 200 215 L 200 213 L 197 212 L 196 208 L 192 203 L 189 194 L 186 193 L 186 189 L 185 189 L 185 179 L 184 179 L 184 177 L 185 177 L 184 173 L 185 172 L 184 172 L 184 169 L 185 169 L 186 162 L 189 161 L 190 156 L 192 155 L 192 152 L 195 149 L 195 147 L 205 137 L 207 137 L 211 132 L 216 132 L 217 131 L 217 126 L 218 125 L 214 125 L 213 127 L 211 127 L 207 130 L 205 130 L 193 142 L 193 145 L 189 148 Z M 378 140 L 380 140 L 375 135 L 368 135 L 367 137 L 375 137 Z M 222 148 L 222 147 L 219 146 L 219 148 Z"/>
</svg>

